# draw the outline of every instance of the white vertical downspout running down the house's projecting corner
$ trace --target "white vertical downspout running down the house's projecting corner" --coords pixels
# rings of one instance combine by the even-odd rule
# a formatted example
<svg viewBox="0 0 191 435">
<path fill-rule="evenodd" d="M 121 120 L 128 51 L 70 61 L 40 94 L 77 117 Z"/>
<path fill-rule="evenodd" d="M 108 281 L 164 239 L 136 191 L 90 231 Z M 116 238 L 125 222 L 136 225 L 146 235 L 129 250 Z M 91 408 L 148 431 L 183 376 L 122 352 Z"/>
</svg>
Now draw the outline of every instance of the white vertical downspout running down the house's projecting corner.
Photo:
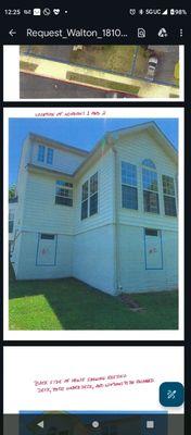
<svg viewBox="0 0 191 435">
<path fill-rule="evenodd" d="M 120 284 L 120 257 L 119 257 L 119 222 L 118 222 L 118 162 L 117 162 L 117 151 L 113 147 L 114 153 L 114 286 L 115 295 L 122 293 Z"/>
</svg>

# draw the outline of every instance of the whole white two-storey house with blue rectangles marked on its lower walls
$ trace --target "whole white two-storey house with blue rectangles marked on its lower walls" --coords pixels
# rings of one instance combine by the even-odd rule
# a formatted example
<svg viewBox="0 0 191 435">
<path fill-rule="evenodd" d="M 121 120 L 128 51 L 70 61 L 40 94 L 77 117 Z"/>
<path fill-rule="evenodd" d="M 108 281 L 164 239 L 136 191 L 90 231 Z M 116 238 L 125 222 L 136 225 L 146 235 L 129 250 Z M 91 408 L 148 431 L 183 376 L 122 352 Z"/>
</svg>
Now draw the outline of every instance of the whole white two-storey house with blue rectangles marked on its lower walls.
<svg viewBox="0 0 191 435">
<path fill-rule="evenodd" d="M 177 288 L 177 161 L 154 122 L 107 133 L 91 152 L 29 134 L 16 278 L 73 276 L 112 295 Z"/>
</svg>

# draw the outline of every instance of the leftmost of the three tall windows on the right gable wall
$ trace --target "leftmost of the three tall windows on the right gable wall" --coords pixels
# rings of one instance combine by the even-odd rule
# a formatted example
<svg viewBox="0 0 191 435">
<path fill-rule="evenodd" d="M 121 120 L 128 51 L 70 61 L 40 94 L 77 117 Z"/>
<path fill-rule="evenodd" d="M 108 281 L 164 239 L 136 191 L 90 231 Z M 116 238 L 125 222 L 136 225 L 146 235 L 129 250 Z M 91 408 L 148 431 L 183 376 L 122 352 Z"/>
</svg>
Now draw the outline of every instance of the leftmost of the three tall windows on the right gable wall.
<svg viewBox="0 0 191 435">
<path fill-rule="evenodd" d="M 137 166 L 122 162 L 122 207 L 138 210 Z"/>
</svg>

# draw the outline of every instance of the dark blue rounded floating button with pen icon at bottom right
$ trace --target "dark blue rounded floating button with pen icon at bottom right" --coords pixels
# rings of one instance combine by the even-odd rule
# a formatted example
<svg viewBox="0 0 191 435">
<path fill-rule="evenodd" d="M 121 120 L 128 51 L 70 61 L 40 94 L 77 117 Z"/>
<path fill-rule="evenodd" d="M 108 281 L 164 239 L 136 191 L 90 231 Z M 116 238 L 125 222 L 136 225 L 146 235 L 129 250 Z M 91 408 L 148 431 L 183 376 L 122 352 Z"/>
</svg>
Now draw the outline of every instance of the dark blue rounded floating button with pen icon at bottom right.
<svg viewBox="0 0 191 435">
<path fill-rule="evenodd" d="M 184 390 L 180 382 L 164 382 L 160 385 L 160 403 L 163 407 L 180 407 L 183 398 Z"/>
</svg>

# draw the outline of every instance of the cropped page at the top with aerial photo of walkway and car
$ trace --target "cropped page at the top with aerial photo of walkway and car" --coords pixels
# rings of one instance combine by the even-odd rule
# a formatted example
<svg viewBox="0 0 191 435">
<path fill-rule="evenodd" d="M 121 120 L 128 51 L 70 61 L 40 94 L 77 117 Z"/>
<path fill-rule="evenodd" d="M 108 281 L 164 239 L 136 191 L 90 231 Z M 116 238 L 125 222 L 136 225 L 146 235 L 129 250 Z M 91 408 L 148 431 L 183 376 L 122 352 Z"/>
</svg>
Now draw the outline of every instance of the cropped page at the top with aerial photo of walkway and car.
<svg viewBox="0 0 191 435">
<path fill-rule="evenodd" d="M 183 46 L 4 46 L 4 72 L 7 101 L 183 100 Z"/>
</svg>

